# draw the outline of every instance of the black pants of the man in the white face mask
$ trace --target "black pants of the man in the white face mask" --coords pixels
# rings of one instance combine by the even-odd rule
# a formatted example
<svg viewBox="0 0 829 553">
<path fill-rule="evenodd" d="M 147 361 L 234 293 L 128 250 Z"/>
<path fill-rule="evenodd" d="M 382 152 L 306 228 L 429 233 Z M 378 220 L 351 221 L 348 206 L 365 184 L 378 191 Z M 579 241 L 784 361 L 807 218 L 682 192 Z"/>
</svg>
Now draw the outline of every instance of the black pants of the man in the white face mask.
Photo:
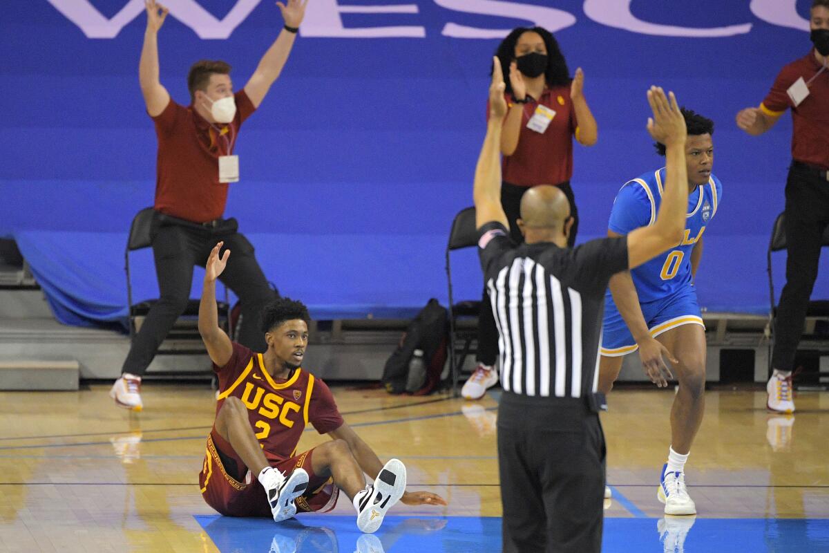
<svg viewBox="0 0 829 553">
<path fill-rule="evenodd" d="M 256 262 L 253 245 L 236 231 L 235 220 L 206 227 L 196 223 L 174 224 L 169 217 L 160 218 L 166 222 L 160 223 L 154 232 L 153 257 L 161 296 L 134 337 L 121 372 L 141 376 L 147 371 L 167 332 L 187 308 L 193 267 L 204 267 L 211 250 L 221 240 L 225 242 L 223 250 L 230 250 L 230 258 L 219 279 L 239 297 L 245 321 L 238 341 L 254 352 L 264 352 L 267 345 L 259 329 L 259 313 L 275 293 Z"/>
</svg>

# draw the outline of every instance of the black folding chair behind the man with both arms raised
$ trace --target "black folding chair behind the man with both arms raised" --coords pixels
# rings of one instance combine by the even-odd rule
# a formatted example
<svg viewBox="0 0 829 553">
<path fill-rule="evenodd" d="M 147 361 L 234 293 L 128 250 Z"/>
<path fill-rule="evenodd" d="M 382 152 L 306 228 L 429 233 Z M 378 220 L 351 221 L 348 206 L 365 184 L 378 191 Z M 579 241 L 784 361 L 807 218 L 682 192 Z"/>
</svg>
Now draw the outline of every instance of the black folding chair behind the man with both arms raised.
<svg viewBox="0 0 829 553">
<path fill-rule="evenodd" d="M 145 299 L 141 302 L 133 303 L 133 286 L 129 273 L 129 254 L 132 251 L 142 250 L 143 248 L 148 248 L 153 245 L 153 228 L 157 224 L 156 221 L 158 221 L 157 212 L 153 210 L 152 207 L 145 207 L 143 210 L 138 211 L 138 214 L 136 214 L 133 218 L 132 226 L 129 227 L 127 248 L 124 250 L 124 271 L 127 274 L 128 327 L 130 342 L 133 342 L 135 339 L 136 334 L 138 334 L 138 327 L 140 326 L 140 323 L 143 321 L 143 318 L 147 317 L 150 308 L 153 307 L 154 303 L 158 302 L 158 299 Z M 197 320 L 199 316 L 199 303 L 200 300 L 191 298 L 190 301 L 187 302 L 187 308 L 184 313 L 182 313 L 182 324 L 177 322 L 176 326 L 173 327 L 172 331 L 167 335 L 167 338 L 170 339 L 177 338 L 179 340 L 187 340 L 189 342 L 189 346 L 183 348 L 176 347 L 172 350 L 162 350 L 159 348 L 159 355 L 183 355 L 204 352 L 204 347 L 201 345 L 201 337 L 198 334 L 197 325 L 193 324 L 193 320 Z M 225 332 L 227 332 L 230 322 L 230 303 L 226 287 L 224 301 L 217 301 L 216 306 L 219 310 L 219 325 L 225 329 Z M 193 341 L 197 341 L 197 345 L 193 344 Z"/>
</svg>

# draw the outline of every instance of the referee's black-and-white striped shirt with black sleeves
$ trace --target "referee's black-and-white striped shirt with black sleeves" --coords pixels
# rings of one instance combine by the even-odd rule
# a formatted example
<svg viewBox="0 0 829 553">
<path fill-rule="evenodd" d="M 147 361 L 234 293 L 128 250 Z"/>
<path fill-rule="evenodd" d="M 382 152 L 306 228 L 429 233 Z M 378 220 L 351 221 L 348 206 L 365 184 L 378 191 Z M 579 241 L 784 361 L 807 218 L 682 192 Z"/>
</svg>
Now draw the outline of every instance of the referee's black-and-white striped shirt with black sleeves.
<svg viewBox="0 0 829 553">
<path fill-rule="evenodd" d="M 570 250 L 511 243 L 501 224 L 479 229 L 478 252 L 501 352 L 501 386 L 519 395 L 585 397 L 599 384 L 604 293 L 628 269 L 628 239 Z"/>
</svg>

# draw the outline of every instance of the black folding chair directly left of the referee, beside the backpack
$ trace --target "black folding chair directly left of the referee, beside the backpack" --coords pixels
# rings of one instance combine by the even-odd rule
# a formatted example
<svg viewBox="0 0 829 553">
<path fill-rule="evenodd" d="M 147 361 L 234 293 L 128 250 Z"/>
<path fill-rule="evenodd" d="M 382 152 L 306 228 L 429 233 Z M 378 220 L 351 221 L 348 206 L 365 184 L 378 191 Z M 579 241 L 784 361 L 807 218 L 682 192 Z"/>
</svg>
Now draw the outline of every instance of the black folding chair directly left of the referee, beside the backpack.
<svg viewBox="0 0 829 553">
<path fill-rule="evenodd" d="M 463 301 L 454 303 L 452 293 L 452 265 L 450 252 L 463 250 L 478 245 L 478 232 L 475 228 L 475 208 L 467 207 L 458 211 L 449 230 L 446 245 L 446 281 L 449 292 L 449 371 L 452 374 L 452 391 L 458 395 L 458 380 L 463 363 L 468 355 L 477 352 L 478 310 L 480 301 Z M 458 322 L 462 324 L 458 326 Z M 475 342 L 475 347 L 473 347 Z"/>
</svg>

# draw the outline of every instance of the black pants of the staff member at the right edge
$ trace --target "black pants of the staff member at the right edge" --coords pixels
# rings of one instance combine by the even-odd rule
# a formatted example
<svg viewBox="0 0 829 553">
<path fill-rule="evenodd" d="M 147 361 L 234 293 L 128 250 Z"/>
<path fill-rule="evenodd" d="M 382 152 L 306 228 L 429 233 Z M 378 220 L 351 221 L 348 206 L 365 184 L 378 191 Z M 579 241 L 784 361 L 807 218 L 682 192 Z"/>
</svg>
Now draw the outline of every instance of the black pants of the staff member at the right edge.
<svg viewBox="0 0 829 553">
<path fill-rule="evenodd" d="M 774 319 L 775 369 L 793 369 L 827 225 L 829 181 L 817 168 L 793 162 L 786 182 L 786 286 Z"/>
</svg>

